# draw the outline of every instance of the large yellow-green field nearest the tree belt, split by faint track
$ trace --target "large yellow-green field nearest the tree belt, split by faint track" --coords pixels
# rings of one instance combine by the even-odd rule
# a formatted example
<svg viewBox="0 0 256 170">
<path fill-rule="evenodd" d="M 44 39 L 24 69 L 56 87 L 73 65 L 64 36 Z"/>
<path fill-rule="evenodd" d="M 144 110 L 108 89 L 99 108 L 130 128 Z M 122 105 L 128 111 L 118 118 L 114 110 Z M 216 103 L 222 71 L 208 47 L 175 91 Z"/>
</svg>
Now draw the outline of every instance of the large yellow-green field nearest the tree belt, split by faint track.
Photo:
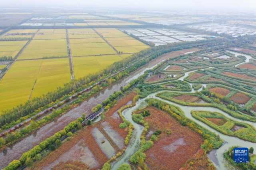
<svg viewBox="0 0 256 170">
<path fill-rule="evenodd" d="M 69 81 L 68 58 L 16 61 L 0 81 L 0 111 L 26 102 L 30 95 L 38 97 Z"/>
</svg>

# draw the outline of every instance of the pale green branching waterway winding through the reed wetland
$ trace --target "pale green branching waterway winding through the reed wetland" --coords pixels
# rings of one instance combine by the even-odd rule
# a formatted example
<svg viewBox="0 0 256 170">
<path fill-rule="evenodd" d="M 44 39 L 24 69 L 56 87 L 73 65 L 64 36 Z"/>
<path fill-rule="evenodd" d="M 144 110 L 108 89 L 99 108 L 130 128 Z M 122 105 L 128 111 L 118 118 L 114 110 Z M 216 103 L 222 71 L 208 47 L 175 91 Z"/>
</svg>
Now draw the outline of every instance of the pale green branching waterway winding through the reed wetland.
<svg viewBox="0 0 256 170">
<path fill-rule="evenodd" d="M 208 154 L 208 157 L 210 158 L 210 160 L 212 160 L 213 164 L 216 166 L 216 168 L 218 170 L 227 169 L 225 167 L 226 161 L 224 159 L 223 154 L 226 150 L 228 150 L 228 148 L 230 148 L 232 146 L 245 146 L 245 147 L 254 147 L 254 148 L 256 148 L 256 143 L 245 141 L 245 140 L 233 137 L 233 136 L 228 136 L 228 135 L 222 134 L 222 133 L 218 132 L 217 130 L 215 130 L 214 128 L 211 128 L 208 125 L 202 123 L 201 121 L 198 121 L 197 119 L 192 117 L 191 111 L 211 111 L 211 112 L 222 113 L 224 116 L 228 117 L 229 119 L 232 119 L 234 121 L 243 122 L 243 123 L 248 123 L 248 124 L 252 125 L 253 127 L 256 127 L 256 123 L 236 119 L 234 117 L 231 117 L 230 115 L 228 115 L 224 111 L 222 111 L 220 109 L 217 109 L 215 107 L 183 106 L 183 105 L 179 105 L 177 103 L 174 103 L 174 102 L 167 101 L 167 100 L 161 99 L 159 97 L 156 97 L 156 94 L 162 93 L 162 92 L 167 92 L 167 91 L 159 91 L 159 92 L 156 92 L 156 93 L 152 93 L 152 94 L 148 95 L 146 98 L 138 100 L 134 107 L 132 107 L 130 109 L 126 109 L 122 112 L 122 114 L 125 116 L 125 118 L 134 125 L 135 133 L 132 136 L 132 139 L 131 139 L 132 142 L 130 142 L 130 144 L 128 145 L 128 147 L 126 149 L 126 152 L 124 153 L 124 155 L 121 157 L 120 160 L 118 160 L 117 162 L 114 162 L 114 165 L 112 166 L 112 169 L 116 170 L 116 169 L 118 169 L 118 167 L 121 164 L 123 164 L 124 162 L 128 162 L 130 156 L 138 150 L 138 146 L 139 146 L 139 143 L 140 143 L 140 135 L 141 135 L 141 132 L 142 132 L 143 128 L 140 125 L 138 126 L 138 124 L 135 123 L 134 121 L 132 121 L 131 115 L 132 115 L 132 111 L 138 109 L 138 107 L 141 107 L 142 104 L 145 105 L 144 101 L 146 99 L 149 99 L 149 98 L 158 99 L 158 100 L 164 101 L 166 103 L 169 103 L 171 105 L 180 107 L 180 109 L 182 109 L 182 111 L 184 111 L 184 114 L 188 119 L 191 119 L 192 121 L 196 122 L 197 124 L 201 125 L 202 127 L 214 132 L 215 134 L 219 135 L 222 140 L 224 140 L 224 143 L 222 144 L 222 146 L 220 148 L 218 148 L 217 150 L 212 150 L 212 152 L 210 152 Z M 173 92 L 177 92 L 177 91 L 173 91 Z M 180 92 L 180 93 L 182 93 L 182 92 Z"/>
</svg>

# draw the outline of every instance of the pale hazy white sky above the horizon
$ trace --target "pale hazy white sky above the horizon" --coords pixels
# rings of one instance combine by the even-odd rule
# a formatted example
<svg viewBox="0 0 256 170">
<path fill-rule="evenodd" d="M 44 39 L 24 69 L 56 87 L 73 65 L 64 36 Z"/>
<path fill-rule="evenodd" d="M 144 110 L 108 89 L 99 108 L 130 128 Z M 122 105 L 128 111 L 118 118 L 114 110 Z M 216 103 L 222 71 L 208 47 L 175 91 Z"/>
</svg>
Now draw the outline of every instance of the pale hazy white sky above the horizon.
<svg viewBox="0 0 256 170">
<path fill-rule="evenodd" d="M 5 7 L 231 8 L 256 10 L 256 0 L 2 0 Z"/>
</svg>

